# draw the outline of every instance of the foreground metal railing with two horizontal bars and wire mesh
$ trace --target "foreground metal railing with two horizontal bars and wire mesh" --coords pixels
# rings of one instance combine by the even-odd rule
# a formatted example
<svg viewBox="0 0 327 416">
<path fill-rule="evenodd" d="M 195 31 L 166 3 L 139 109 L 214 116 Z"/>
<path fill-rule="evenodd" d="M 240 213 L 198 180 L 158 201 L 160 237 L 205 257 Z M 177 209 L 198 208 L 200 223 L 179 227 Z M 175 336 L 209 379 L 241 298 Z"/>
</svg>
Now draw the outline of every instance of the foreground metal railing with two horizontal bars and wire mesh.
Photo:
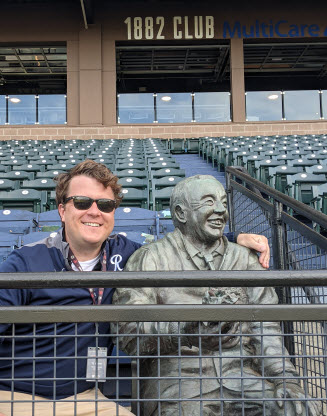
<svg viewBox="0 0 327 416">
<path fill-rule="evenodd" d="M 74 272 L 0 274 L 0 288 L 13 289 L 115 286 L 117 288 L 151 287 L 158 290 L 169 287 L 169 290 L 173 290 L 179 287 L 302 288 L 313 285 L 327 286 L 325 271 L 221 271 L 218 276 L 215 271 L 170 272 L 169 276 L 165 272 L 156 274 L 93 272 L 79 273 L 78 279 Z M 139 416 L 183 415 L 185 411 L 193 411 L 194 415 L 210 414 L 207 412 L 225 416 L 247 415 L 251 409 L 261 411 L 258 414 L 263 415 L 288 415 L 287 406 L 294 402 L 287 393 L 289 382 L 301 386 L 303 415 L 310 414 L 309 408 L 312 403 L 320 403 L 324 412 L 321 414 L 326 414 L 326 321 L 327 305 L 310 303 L 305 305 L 282 303 L 279 305 L 25 306 L 2 307 L 0 314 L 0 324 L 12 324 L 4 335 L 5 341 L 13 344 L 29 342 L 34 346 L 34 351 L 37 343 L 42 342 L 45 336 L 56 343 L 61 336 L 57 331 L 60 322 L 70 322 L 76 327 L 75 338 L 79 336 L 78 323 L 94 322 L 95 333 L 91 336 L 94 338 L 94 344 L 107 335 L 98 332 L 101 322 L 112 323 L 112 338 L 117 349 L 128 350 L 126 340 L 133 338 L 135 350 L 127 351 L 130 353 L 133 372 L 122 375 L 121 370 L 126 357 L 121 357 L 118 353 L 110 355 L 108 352 L 105 357 L 95 357 L 95 360 L 106 358 L 109 361 L 109 370 L 104 378 L 96 377 L 94 386 L 100 388 L 109 400 L 117 405 L 119 403 L 131 406 L 133 413 Z M 152 329 L 147 332 L 144 330 L 146 322 L 152 323 Z M 187 322 L 193 324 L 185 330 L 184 325 Z M 53 326 L 53 333 L 33 337 L 17 336 L 16 325 L 22 323 L 31 323 L 34 334 L 40 333 L 39 329 L 42 332 L 43 325 L 50 324 Z M 132 324 L 132 331 L 123 331 L 126 323 Z M 288 332 L 289 328 L 285 323 L 293 323 L 292 333 Z M 208 324 L 213 332 L 210 335 L 204 332 Z M 230 328 L 227 324 L 232 325 L 234 330 L 226 329 Z M 266 348 L 266 344 L 269 344 L 270 339 L 278 337 L 282 339 L 281 347 L 272 354 L 272 351 Z M 289 339 L 296 340 L 296 349 L 290 354 L 284 347 L 289 343 Z M 154 347 L 144 348 L 145 340 L 150 340 L 150 344 Z M 214 352 L 209 351 L 207 347 L 210 340 L 215 344 Z M 256 342 L 257 347 L 255 347 Z M 167 345 L 169 345 L 168 349 Z M 13 356 L 10 357 L 13 366 L 20 358 L 15 357 L 13 352 Z M 45 359 L 54 360 L 57 366 L 66 360 L 76 367 L 81 360 L 88 359 L 84 355 L 79 355 L 77 350 L 74 360 L 68 361 L 70 358 L 70 356 L 57 356 L 55 353 L 50 358 L 37 354 L 30 357 L 34 367 Z M 8 358 L 0 357 L 0 366 L 6 360 Z M 292 375 L 288 370 L 290 361 L 296 369 Z M 271 365 L 276 366 L 276 362 L 279 371 L 269 372 Z M 236 370 L 227 371 L 226 368 Z M 78 384 L 81 380 L 84 381 L 85 377 L 76 376 L 71 381 Z M 16 381 L 14 373 L 10 381 L 14 390 Z M 25 382 L 32 384 L 37 381 L 40 380 L 35 378 L 35 373 L 32 373 L 30 378 L 25 378 Z M 62 380 L 54 373 L 47 381 L 53 383 L 55 389 L 56 383 Z M 128 394 L 126 394 L 126 384 L 131 389 Z M 250 394 L 249 386 L 254 385 L 261 387 L 253 395 Z M 278 401 L 284 404 L 279 413 L 269 413 L 274 411 L 272 409 L 280 409 L 277 397 L 273 394 L 274 386 L 279 386 L 281 389 L 282 397 Z M 232 394 L 231 387 L 234 388 Z M 34 408 L 35 415 L 39 414 L 37 410 L 39 400 L 37 396 L 32 396 L 31 409 Z M 75 406 L 78 403 L 77 398 L 73 397 L 69 400 Z M 106 400 L 108 399 L 103 396 L 94 400 L 95 415 L 101 414 L 97 409 L 100 409 Z M 7 400 L 8 402 L 12 403 L 12 409 L 15 409 L 14 398 Z M 54 398 L 53 402 L 58 406 L 59 401 Z M 0 412 L 2 404 L 5 404 L 5 401 L 1 400 L 0 396 Z M 30 414 L 33 414 L 32 410 Z M 56 407 L 51 414 L 55 415 L 55 411 Z M 117 406 L 115 413 L 112 414 L 118 415 L 119 411 Z M 232 413 L 234 411 L 238 413 Z M 78 415 L 78 412 L 72 414 Z"/>
</svg>

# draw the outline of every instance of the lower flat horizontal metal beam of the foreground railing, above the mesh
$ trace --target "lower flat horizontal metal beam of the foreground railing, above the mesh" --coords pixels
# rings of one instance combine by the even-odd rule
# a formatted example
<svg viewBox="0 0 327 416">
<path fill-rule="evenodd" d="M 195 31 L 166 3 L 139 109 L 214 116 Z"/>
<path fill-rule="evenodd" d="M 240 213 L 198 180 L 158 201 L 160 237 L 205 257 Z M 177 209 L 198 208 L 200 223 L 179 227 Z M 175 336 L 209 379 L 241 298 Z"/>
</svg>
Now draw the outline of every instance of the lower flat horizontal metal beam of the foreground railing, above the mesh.
<svg viewBox="0 0 327 416">
<path fill-rule="evenodd" d="M 152 274 L 153 275 L 153 274 Z M 0 323 L 326 321 L 327 305 L 100 305 L 1 307 Z"/>
</svg>

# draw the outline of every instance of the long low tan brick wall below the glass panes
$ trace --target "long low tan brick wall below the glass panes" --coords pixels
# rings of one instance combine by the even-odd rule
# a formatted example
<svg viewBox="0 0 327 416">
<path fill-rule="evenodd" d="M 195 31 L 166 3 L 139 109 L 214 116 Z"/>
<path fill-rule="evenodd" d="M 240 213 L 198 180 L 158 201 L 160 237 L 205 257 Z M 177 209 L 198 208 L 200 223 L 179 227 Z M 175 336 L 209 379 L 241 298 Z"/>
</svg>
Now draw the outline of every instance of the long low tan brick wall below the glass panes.
<svg viewBox="0 0 327 416">
<path fill-rule="evenodd" d="M 171 139 L 201 136 L 267 136 L 278 134 L 327 134 L 327 121 L 311 122 L 248 122 L 218 124 L 139 124 L 114 126 L 2 126 L 0 140 L 86 140 L 86 139 Z"/>
</svg>

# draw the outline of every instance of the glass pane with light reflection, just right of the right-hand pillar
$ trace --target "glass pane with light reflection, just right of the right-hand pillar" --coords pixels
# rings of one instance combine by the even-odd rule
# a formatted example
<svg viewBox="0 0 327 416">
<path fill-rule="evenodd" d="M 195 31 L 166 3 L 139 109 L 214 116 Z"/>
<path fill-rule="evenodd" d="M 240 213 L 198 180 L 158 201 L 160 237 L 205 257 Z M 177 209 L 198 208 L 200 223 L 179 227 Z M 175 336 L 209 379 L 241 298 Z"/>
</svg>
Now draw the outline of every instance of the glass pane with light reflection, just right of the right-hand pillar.
<svg viewBox="0 0 327 416">
<path fill-rule="evenodd" d="M 251 91 L 246 93 L 247 121 L 274 121 L 282 119 L 280 91 Z"/>
</svg>

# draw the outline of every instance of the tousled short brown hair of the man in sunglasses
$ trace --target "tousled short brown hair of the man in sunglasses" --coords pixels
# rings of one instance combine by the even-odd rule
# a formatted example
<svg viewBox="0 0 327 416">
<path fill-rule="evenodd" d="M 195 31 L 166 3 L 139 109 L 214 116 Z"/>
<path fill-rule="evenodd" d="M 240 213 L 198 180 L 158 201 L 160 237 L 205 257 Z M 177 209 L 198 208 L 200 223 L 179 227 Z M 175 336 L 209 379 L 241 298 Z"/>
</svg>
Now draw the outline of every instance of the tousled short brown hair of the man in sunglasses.
<svg viewBox="0 0 327 416">
<path fill-rule="evenodd" d="M 116 208 L 119 207 L 119 204 L 122 201 L 121 195 L 121 185 L 118 184 L 118 178 L 115 176 L 110 169 L 108 169 L 102 163 L 94 162 L 94 160 L 86 159 L 84 162 L 79 163 L 69 171 L 61 173 L 60 175 L 54 178 L 54 181 L 57 183 L 56 186 L 56 203 L 59 207 L 59 204 L 63 204 L 67 197 L 67 192 L 71 180 L 75 176 L 85 175 L 90 178 L 96 179 L 98 182 L 102 183 L 105 188 L 112 189 L 116 200 Z"/>
</svg>

